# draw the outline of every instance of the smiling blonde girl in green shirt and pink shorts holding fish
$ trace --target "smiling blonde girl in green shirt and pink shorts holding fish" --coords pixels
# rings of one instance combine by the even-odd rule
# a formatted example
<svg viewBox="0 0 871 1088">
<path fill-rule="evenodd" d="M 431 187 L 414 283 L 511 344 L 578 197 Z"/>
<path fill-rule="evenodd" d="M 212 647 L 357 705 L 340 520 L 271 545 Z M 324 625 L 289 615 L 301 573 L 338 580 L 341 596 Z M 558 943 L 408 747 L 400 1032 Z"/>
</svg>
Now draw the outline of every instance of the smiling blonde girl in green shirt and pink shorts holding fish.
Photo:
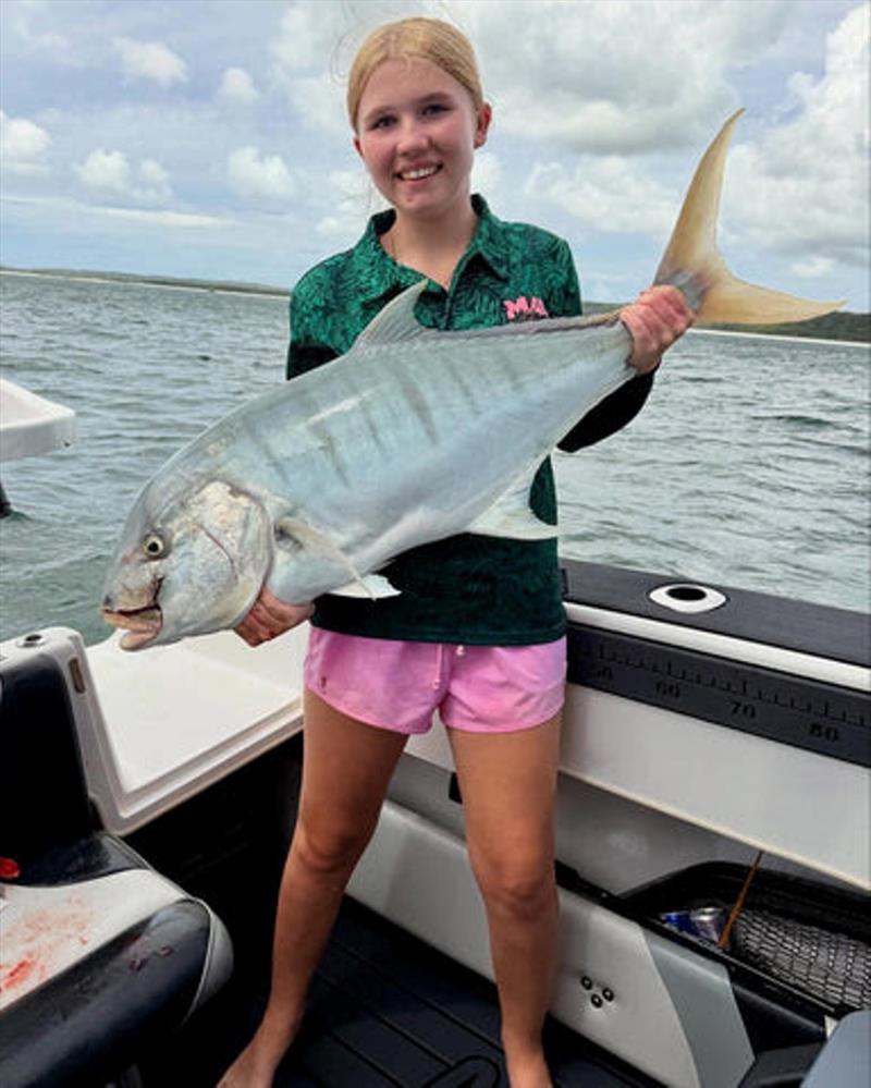
<svg viewBox="0 0 871 1088">
<path fill-rule="evenodd" d="M 354 147 L 392 210 L 297 284 L 289 377 L 346 352 L 421 274 L 430 283 L 417 317 L 431 328 L 580 311 L 568 246 L 500 221 L 470 195 L 492 111 L 462 34 L 430 19 L 382 26 L 357 53 L 347 106 Z M 658 288 L 622 318 L 639 377 L 589 413 L 566 449 L 635 415 L 662 351 L 691 314 L 679 292 Z M 549 464 L 530 505 L 555 522 Z M 556 543 L 463 535 L 400 557 L 390 579 L 400 596 L 328 596 L 314 609 L 303 786 L 279 895 L 272 987 L 260 1027 L 221 1088 L 271 1085 L 406 738 L 427 730 L 436 709 L 449 730 L 486 906 L 511 1085 L 551 1083 L 541 1028 L 556 942 L 553 803 L 565 686 Z M 236 629 L 254 646 L 310 611 L 265 590 Z"/>
</svg>

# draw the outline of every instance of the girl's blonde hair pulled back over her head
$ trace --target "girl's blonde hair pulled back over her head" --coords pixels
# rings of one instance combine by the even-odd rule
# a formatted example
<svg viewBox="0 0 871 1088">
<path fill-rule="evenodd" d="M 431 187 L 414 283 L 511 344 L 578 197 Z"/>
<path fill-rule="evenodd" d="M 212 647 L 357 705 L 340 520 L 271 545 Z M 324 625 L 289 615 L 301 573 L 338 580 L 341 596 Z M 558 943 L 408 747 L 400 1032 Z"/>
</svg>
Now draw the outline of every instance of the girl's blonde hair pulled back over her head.
<svg viewBox="0 0 871 1088">
<path fill-rule="evenodd" d="M 476 110 L 483 106 L 481 77 L 471 42 L 440 19 L 414 16 L 385 23 L 357 50 L 347 78 L 347 115 L 356 131 L 360 99 L 372 72 L 389 60 L 428 60 L 462 84 Z"/>
</svg>

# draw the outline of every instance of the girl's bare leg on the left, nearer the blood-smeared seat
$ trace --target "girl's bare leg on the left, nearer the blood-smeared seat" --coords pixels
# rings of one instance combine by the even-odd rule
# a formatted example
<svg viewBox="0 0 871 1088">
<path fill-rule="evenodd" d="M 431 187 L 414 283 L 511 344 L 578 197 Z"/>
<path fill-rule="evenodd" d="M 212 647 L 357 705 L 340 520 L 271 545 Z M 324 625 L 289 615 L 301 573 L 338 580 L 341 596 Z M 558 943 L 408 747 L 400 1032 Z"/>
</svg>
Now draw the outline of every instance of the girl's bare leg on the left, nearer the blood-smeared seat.
<svg viewBox="0 0 871 1088">
<path fill-rule="evenodd" d="M 347 718 L 312 692 L 305 693 L 299 815 L 279 892 L 269 1002 L 254 1038 L 219 1088 L 272 1084 L 405 741 L 402 733 Z"/>
</svg>

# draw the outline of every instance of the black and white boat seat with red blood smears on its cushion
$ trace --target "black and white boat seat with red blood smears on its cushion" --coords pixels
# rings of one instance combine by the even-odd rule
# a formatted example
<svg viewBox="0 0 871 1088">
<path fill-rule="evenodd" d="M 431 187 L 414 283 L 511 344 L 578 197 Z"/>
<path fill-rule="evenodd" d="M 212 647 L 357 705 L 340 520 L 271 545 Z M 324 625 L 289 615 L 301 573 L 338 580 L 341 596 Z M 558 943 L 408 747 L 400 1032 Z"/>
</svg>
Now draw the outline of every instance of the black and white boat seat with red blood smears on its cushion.
<svg viewBox="0 0 871 1088">
<path fill-rule="evenodd" d="M 91 1088 L 220 989 L 232 948 L 205 903 L 95 826 L 68 673 L 21 649 L 0 660 L 0 1084 Z"/>
</svg>

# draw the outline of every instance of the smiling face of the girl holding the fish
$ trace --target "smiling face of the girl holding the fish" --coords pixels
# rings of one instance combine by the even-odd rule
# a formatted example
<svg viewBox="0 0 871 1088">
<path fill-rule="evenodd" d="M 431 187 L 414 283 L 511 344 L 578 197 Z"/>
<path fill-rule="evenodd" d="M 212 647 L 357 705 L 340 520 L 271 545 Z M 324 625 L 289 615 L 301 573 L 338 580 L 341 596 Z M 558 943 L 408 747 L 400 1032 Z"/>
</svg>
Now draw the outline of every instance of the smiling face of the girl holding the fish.
<svg viewBox="0 0 871 1088">
<path fill-rule="evenodd" d="M 397 215 L 436 219 L 468 207 L 490 115 L 431 61 L 384 61 L 364 88 L 354 146 Z"/>
</svg>

